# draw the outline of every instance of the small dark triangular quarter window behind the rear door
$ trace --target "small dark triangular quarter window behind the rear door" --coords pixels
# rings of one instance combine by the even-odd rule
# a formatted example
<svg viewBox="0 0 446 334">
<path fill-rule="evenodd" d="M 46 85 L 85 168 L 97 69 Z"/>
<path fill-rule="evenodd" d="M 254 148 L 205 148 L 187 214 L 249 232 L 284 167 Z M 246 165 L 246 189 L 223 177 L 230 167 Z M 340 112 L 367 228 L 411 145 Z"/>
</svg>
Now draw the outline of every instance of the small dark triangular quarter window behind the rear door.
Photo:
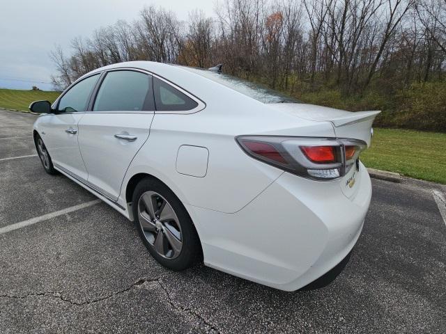
<svg viewBox="0 0 446 334">
<path fill-rule="evenodd" d="M 198 106 L 197 102 L 181 93 L 180 90 L 155 77 L 153 92 L 156 110 L 159 111 L 188 111 Z"/>
</svg>

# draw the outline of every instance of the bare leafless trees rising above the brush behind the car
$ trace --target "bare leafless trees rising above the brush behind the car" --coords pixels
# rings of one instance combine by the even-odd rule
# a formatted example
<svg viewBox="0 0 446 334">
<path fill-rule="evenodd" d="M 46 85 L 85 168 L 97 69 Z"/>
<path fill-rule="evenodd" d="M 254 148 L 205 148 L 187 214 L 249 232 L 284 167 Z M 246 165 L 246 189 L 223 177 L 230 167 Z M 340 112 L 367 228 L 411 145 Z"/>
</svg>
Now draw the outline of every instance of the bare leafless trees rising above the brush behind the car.
<svg viewBox="0 0 446 334">
<path fill-rule="evenodd" d="M 186 22 L 164 8 L 141 10 L 56 47 L 52 82 L 62 90 L 86 72 L 121 61 L 224 72 L 292 95 L 335 89 L 393 94 L 445 81 L 446 0 L 223 0 L 215 16 Z"/>
</svg>

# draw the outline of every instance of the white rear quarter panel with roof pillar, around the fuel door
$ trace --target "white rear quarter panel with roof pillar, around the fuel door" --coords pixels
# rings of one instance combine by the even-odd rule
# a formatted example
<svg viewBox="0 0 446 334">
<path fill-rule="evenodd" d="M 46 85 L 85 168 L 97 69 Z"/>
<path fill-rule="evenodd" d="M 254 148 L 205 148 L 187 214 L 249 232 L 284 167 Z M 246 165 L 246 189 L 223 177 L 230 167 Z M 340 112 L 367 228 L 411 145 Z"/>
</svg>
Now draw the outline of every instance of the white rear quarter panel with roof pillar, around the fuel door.
<svg viewBox="0 0 446 334">
<path fill-rule="evenodd" d="M 187 74 L 194 77 L 192 79 L 199 77 Z M 151 135 L 125 175 L 121 200 L 125 199 L 125 186 L 132 175 L 148 173 L 167 184 L 185 204 L 225 213 L 237 212 L 274 182 L 283 170 L 248 157 L 238 146 L 236 136 L 334 136 L 330 122 L 303 120 L 272 111 L 267 104 L 199 78 L 201 81 L 197 79 L 194 93 L 202 88 L 199 98 L 206 103 L 206 108 L 192 114 L 155 113 Z M 204 177 L 178 173 L 176 159 L 181 145 L 208 150 Z"/>
</svg>

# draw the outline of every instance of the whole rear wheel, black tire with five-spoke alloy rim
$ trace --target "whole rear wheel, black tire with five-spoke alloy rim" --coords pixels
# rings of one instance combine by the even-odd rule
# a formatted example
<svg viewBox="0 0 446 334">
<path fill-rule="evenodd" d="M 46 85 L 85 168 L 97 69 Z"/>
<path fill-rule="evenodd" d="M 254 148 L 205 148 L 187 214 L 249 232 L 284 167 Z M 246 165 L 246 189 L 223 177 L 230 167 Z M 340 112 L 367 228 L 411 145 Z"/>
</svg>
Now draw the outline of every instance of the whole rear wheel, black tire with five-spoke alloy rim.
<svg viewBox="0 0 446 334">
<path fill-rule="evenodd" d="M 150 177 L 141 180 L 134 189 L 132 207 L 139 235 L 157 262 L 180 271 L 201 260 L 197 230 L 169 187 Z"/>
</svg>

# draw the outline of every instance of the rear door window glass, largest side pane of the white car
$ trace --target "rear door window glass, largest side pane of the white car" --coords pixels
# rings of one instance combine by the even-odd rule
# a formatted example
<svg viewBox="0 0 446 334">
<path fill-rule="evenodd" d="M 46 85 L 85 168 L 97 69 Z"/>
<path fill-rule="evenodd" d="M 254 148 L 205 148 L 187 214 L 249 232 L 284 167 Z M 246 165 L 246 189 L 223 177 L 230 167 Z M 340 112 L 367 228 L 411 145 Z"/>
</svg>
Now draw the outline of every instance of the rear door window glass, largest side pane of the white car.
<svg viewBox="0 0 446 334">
<path fill-rule="evenodd" d="M 108 72 L 93 111 L 155 111 L 152 76 L 136 71 Z"/>
</svg>

